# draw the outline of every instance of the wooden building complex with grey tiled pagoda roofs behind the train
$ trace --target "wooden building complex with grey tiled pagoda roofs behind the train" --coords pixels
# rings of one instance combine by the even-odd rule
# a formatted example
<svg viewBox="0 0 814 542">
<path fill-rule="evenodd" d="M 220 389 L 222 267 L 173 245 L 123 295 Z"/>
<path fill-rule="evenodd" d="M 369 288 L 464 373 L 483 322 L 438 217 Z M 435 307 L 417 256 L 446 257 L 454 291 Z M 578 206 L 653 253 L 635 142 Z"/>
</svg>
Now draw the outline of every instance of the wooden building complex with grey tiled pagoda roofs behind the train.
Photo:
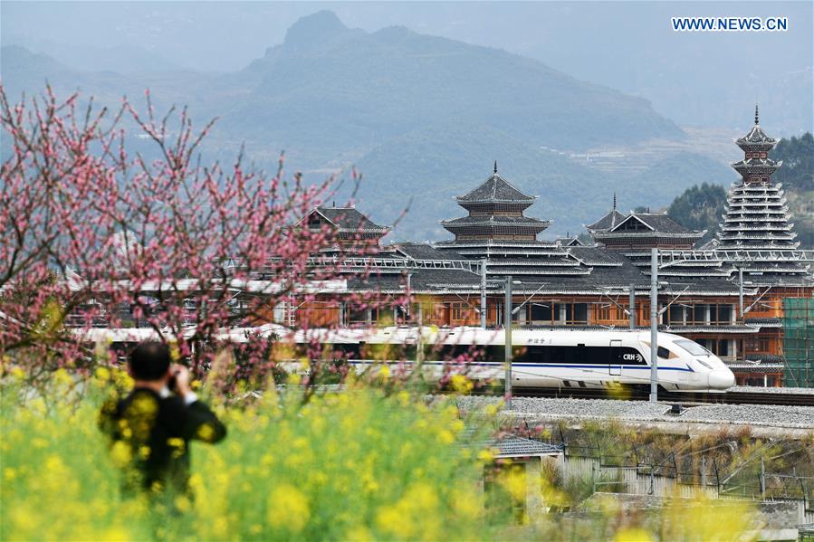
<svg viewBox="0 0 814 542">
<path fill-rule="evenodd" d="M 720 233 L 710 246 L 695 247 L 705 232 L 666 214 L 619 212 L 615 198 L 608 214 L 586 226 L 593 246 L 572 238 L 539 239 L 551 222 L 527 215 L 536 196 L 499 175 L 495 163 L 484 182 L 455 197 L 466 214 L 441 222 L 452 239 L 379 247 L 372 272 L 365 279 L 349 274 L 348 289 L 409 291 L 409 314 L 438 326 L 479 325 L 485 290 L 486 324 L 499 327 L 500 281 L 511 275 L 513 306 L 522 305 L 513 316 L 516 325 L 545 328 L 627 328 L 633 290 L 635 326 L 647 328 L 651 249 L 685 251 L 691 256 L 660 266 L 659 328 L 713 351 L 733 366 L 739 383 L 781 385 L 782 300 L 811 297 L 814 281 L 794 250 L 799 243 L 782 188 L 771 182 L 781 166 L 767 157 L 776 141 L 762 131 L 757 114 L 755 120 L 736 141 L 746 153 L 733 164 L 742 180 L 730 188 Z M 749 261 L 740 259 L 744 250 Z M 407 317 L 407 309 L 376 315 L 330 311 L 347 324 Z"/>
</svg>

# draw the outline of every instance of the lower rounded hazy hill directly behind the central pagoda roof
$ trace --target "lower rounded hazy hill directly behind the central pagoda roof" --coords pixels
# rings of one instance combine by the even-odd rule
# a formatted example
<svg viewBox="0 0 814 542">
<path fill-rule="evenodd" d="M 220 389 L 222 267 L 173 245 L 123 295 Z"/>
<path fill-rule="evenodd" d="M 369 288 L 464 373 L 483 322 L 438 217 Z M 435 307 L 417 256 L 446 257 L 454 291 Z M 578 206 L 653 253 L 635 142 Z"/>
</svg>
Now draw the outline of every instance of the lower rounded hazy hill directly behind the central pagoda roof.
<svg viewBox="0 0 814 542">
<path fill-rule="evenodd" d="M 484 125 L 449 128 L 430 124 L 391 138 L 359 159 L 365 176 L 359 187 L 359 206 L 379 222 L 388 223 L 409 204 L 408 213 L 391 234 L 394 239 L 447 238 L 450 233 L 438 222 L 465 214 L 455 196 L 466 194 L 491 176 L 494 160 L 503 177 L 523 192 L 539 196 L 527 214 L 553 219 L 555 231 L 579 231 L 583 223 L 595 218 L 592 210 L 602 208 L 608 200 L 607 178 L 567 157 Z M 563 213 L 564 208 L 568 213 Z"/>
</svg>

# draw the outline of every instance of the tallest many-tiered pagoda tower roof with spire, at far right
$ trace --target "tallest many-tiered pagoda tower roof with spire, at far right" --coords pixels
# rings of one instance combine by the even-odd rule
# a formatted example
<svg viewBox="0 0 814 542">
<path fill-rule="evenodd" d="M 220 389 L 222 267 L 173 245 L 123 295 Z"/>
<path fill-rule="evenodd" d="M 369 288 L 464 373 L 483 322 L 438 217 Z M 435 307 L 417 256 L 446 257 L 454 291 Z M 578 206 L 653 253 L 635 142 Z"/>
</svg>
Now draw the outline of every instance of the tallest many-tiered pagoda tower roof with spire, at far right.
<svg viewBox="0 0 814 542">
<path fill-rule="evenodd" d="M 755 107 L 754 126 L 735 141 L 745 153 L 733 163 L 741 181 L 731 185 L 726 198 L 716 245 L 720 249 L 748 250 L 752 259 L 733 266 L 741 267 L 754 283 L 800 283 L 809 281 L 809 266 L 793 261 L 780 251 L 793 251 L 800 246 L 794 224 L 789 222 L 789 207 L 782 185 L 771 182 L 771 175 L 782 165 L 767 156 L 777 143 L 761 129 Z M 756 259 L 755 259 L 756 258 Z"/>
</svg>

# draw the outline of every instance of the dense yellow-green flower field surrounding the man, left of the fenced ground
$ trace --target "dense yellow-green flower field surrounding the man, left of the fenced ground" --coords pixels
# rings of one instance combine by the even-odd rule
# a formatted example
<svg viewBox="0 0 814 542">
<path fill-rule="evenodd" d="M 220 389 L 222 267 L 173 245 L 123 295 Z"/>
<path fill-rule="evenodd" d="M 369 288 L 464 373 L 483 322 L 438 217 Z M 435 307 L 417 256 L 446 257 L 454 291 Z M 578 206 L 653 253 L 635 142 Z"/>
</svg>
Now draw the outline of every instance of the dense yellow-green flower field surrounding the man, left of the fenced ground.
<svg viewBox="0 0 814 542">
<path fill-rule="evenodd" d="M 465 445 L 457 410 L 370 387 L 221 406 L 225 441 L 192 444 L 193 500 L 122 499 L 116 463 L 129 458 L 96 427 L 107 376 L 78 402 L 64 375 L 48 400 L 5 385 L 3 540 L 484 536 L 476 490 L 488 454 Z"/>
</svg>

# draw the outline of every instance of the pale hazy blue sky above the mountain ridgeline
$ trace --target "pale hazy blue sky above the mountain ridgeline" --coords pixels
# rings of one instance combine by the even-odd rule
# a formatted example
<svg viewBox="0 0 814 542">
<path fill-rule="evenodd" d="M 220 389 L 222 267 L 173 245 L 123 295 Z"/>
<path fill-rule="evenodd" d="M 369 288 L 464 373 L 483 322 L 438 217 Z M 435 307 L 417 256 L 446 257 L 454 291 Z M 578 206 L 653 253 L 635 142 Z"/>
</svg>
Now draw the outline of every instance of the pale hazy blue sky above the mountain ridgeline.
<svg viewBox="0 0 814 542">
<path fill-rule="evenodd" d="M 742 126 L 716 102 L 766 104 L 787 133 L 811 129 L 812 5 L 801 2 L 8 2 L 3 44 L 93 69 L 99 50 L 139 48 L 156 67 L 235 71 L 299 17 L 420 32 L 518 52 L 643 96 L 682 125 Z M 675 15 L 787 16 L 785 33 L 675 33 Z M 100 61 L 101 62 L 101 61 Z M 106 69 L 108 65 L 103 66 Z M 128 71 L 127 65 L 117 71 Z M 484 79 L 489 74 L 484 73 Z M 509 81 L 507 81 L 509 82 Z"/>
</svg>

